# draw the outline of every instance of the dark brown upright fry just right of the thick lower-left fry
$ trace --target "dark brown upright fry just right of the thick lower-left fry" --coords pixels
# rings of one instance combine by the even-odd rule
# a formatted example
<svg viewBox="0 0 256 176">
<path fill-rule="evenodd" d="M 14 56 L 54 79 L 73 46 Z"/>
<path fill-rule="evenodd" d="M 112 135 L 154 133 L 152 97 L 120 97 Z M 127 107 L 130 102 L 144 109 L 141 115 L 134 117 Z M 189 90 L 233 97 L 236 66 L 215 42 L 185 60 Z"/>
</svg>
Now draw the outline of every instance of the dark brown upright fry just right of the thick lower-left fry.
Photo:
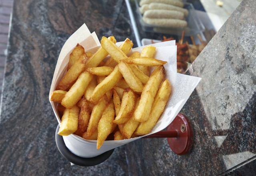
<svg viewBox="0 0 256 176">
<path fill-rule="evenodd" d="M 78 127 L 74 134 L 78 136 L 82 136 L 82 134 L 86 132 L 90 115 L 91 114 L 90 114 L 88 102 L 86 101 L 85 98 L 82 98 L 82 106 L 81 106 L 79 117 L 78 117 Z"/>
</svg>

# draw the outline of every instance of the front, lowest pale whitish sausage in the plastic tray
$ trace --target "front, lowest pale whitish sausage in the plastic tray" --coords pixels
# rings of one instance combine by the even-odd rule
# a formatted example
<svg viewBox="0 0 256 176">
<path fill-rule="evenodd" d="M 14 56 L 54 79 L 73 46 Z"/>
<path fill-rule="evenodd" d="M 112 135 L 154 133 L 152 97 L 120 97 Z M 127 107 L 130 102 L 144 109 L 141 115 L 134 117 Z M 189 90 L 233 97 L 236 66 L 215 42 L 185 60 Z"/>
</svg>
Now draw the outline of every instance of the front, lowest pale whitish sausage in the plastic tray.
<svg viewBox="0 0 256 176">
<path fill-rule="evenodd" d="M 172 27 L 172 28 L 185 28 L 188 23 L 185 20 L 179 19 L 166 19 L 166 18 L 144 18 L 143 21 L 159 27 Z"/>
</svg>

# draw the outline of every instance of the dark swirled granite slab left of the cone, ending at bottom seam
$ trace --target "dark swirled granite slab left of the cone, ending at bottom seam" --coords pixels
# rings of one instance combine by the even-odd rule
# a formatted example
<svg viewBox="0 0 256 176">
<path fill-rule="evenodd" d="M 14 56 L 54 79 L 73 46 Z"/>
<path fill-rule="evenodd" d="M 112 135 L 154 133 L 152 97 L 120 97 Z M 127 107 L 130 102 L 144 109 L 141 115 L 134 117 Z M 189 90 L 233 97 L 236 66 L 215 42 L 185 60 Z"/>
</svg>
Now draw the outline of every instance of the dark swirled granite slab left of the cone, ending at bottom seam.
<svg viewBox="0 0 256 176">
<path fill-rule="evenodd" d="M 90 168 L 70 166 L 55 144 L 48 100 L 64 42 L 83 23 L 99 37 L 134 40 L 123 0 L 16 0 L 2 97 L 0 175 L 125 175 L 125 147 Z"/>
</svg>

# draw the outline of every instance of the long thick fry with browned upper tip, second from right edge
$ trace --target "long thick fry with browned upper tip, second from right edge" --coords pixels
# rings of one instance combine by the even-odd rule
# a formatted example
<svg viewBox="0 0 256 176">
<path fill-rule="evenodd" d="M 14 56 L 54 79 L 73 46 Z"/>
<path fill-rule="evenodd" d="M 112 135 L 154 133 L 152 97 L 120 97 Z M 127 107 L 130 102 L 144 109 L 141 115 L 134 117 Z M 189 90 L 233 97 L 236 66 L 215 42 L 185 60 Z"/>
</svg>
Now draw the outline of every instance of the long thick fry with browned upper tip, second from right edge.
<svg viewBox="0 0 256 176">
<path fill-rule="evenodd" d="M 154 72 L 150 75 L 147 84 L 144 86 L 140 96 L 138 107 L 134 111 L 134 120 L 138 122 L 145 122 L 148 120 L 156 92 L 165 76 L 163 66 L 155 68 Z"/>
</svg>

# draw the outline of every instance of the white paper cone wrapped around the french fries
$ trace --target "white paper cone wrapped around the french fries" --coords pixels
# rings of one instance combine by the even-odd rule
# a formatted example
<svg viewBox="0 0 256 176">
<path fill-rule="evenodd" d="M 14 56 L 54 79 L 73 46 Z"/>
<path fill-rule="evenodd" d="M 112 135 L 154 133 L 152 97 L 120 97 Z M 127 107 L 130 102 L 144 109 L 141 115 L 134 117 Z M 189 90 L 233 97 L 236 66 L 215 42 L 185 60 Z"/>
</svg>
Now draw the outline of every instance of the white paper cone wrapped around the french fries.
<svg viewBox="0 0 256 176">
<path fill-rule="evenodd" d="M 49 100 L 58 82 L 62 78 L 63 74 L 66 72 L 69 55 L 77 43 L 82 45 L 85 48 L 86 52 L 91 51 L 94 53 L 100 47 L 100 42 L 95 32 L 91 34 L 86 24 L 83 24 L 76 32 L 74 32 L 74 34 L 70 36 L 70 38 L 68 38 L 68 40 L 62 47 L 60 56 L 58 58 L 58 62 L 56 64 L 54 76 L 52 78 L 52 85 L 49 93 Z M 116 43 L 116 45 L 120 44 L 122 44 L 122 42 Z M 185 102 L 188 100 L 188 97 L 193 92 L 194 88 L 200 82 L 201 78 L 177 73 L 177 47 L 175 46 L 174 40 L 151 45 L 156 46 L 155 58 L 168 62 L 164 65 L 164 67 L 166 69 L 166 78 L 170 80 L 170 83 L 172 85 L 172 94 L 170 100 L 166 105 L 166 109 L 164 110 L 162 116 L 158 120 L 156 126 L 150 133 L 153 134 L 163 130 L 172 122 L 172 120 L 174 120 L 176 115 L 184 106 Z M 133 48 L 132 51 L 141 52 L 142 48 L 143 47 Z M 58 120 L 58 123 L 60 124 L 60 116 L 58 114 L 56 107 L 57 103 L 52 101 L 50 101 L 50 103 L 54 110 L 54 114 Z M 67 148 L 72 153 L 80 157 L 90 158 L 98 156 L 108 150 L 122 146 L 134 140 L 140 139 L 141 137 L 143 136 L 126 140 L 105 141 L 100 150 L 96 149 L 96 140 L 86 140 L 74 134 L 71 134 L 69 136 L 63 136 L 63 139 Z"/>
</svg>

